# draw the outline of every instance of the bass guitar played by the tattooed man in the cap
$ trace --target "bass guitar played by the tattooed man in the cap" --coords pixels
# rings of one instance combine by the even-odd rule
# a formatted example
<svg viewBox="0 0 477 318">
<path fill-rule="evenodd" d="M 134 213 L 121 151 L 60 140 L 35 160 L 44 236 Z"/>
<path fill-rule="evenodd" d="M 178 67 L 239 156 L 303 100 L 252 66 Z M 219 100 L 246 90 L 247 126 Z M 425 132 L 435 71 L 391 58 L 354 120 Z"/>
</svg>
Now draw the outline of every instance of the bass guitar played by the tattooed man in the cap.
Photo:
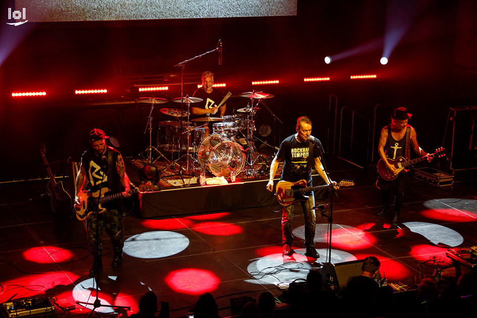
<svg viewBox="0 0 477 318">
<path fill-rule="evenodd" d="M 137 192 L 145 192 L 151 190 L 154 190 L 154 185 L 140 185 L 139 188 L 131 189 L 129 193 L 134 194 Z M 101 193 L 100 190 L 93 193 L 87 190 L 82 191 L 79 194 L 79 197 L 81 198 L 81 206 L 79 207 L 79 209 L 75 207 L 76 218 L 82 221 L 90 214 L 94 213 L 94 211 L 96 210 L 98 210 L 99 213 L 104 213 L 106 209 L 104 209 L 101 204 L 122 197 L 121 192 L 105 196 L 105 194 L 108 192 L 108 188 L 102 188 Z"/>
</svg>

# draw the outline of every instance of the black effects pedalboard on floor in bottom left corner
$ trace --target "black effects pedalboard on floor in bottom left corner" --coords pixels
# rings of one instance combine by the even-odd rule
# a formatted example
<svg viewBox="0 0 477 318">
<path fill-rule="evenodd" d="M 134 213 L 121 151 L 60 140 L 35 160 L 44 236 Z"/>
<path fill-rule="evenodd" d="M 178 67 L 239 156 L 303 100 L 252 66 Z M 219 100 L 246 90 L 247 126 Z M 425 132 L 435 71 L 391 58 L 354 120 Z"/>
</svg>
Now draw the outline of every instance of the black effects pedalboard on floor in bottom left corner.
<svg viewBox="0 0 477 318">
<path fill-rule="evenodd" d="M 55 306 L 51 297 L 16 299 L 2 304 L 2 311 L 9 318 L 52 312 Z"/>
</svg>

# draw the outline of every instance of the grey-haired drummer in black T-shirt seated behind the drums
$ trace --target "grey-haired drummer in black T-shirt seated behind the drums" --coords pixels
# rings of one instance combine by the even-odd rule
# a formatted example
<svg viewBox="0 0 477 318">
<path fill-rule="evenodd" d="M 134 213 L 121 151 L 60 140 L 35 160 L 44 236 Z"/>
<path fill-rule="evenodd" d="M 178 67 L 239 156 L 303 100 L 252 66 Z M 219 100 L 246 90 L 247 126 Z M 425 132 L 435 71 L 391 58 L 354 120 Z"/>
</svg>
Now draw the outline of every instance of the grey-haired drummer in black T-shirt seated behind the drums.
<svg viewBox="0 0 477 318">
<path fill-rule="evenodd" d="M 205 71 L 202 73 L 202 87 L 194 92 L 193 97 L 201 98 L 202 102 L 190 105 L 191 118 L 201 117 L 223 117 L 226 106 L 223 104 L 218 108 L 218 104 L 222 101 L 225 94 L 213 87 L 214 73 Z M 209 124 L 209 126 L 211 126 Z M 205 126 L 204 138 L 210 133 L 210 127 Z"/>
</svg>

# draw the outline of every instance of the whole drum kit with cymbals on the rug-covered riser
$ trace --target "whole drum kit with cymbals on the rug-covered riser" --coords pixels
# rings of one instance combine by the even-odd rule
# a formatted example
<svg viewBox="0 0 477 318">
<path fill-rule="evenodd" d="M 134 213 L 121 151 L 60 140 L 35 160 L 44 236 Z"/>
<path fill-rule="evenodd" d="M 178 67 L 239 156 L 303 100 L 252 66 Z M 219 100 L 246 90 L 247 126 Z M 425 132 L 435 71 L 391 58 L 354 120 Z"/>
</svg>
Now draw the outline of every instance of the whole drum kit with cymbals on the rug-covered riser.
<svg viewBox="0 0 477 318">
<path fill-rule="evenodd" d="M 221 104 L 230 95 L 228 93 Z M 183 103 L 187 105 L 187 108 L 186 110 L 175 108 L 160 109 L 161 113 L 176 117 L 177 119 L 159 122 L 157 148 L 151 145 L 152 109 L 155 104 L 163 104 L 167 100 L 157 98 L 141 99 L 140 102 L 142 103 L 152 104 L 146 128 L 146 130 L 150 130 L 150 146 L 146 149 L 148 161 L 150 163 L 153 162 L 153 150 L 166 158 L 159 151 L 161 149 L 170 154 L 171 160 L 166 158 L 168 163 L 173 166 L 179 162 L 180 169 L 184 169 L 185 172 L 190 172 L 195 176 L 203 168 L 206 168 L 217 177 L 231 178 L 232 180 L 234 176 L 240 173 L 244 173 L 246 176 L 257 176 L 258 169 L 256 163 L 258 163 L 261 156 L 261 154 L 255 151 L 253 135 L 256 130 L 255 116 L 260 110 L 257 105 L 263 103 L 264 99 L 274 96 L 254 91 L 240 94 L 240 97 L 247 98 L 250 102 L 247 107 L 237 109 L 236 114 L 223 117 L 206 116 L 192 120 L 189 120 L 190 104 L 202 102 L 202 99 L 188 96 L 183 101 L 181 101 L 181 98 L 172 99 L 172 102 Z M 205 135 L 206 126 L 210 122 L 212 122 L 212 131 L 209 135 Z M 179 155 L 174 160 L 175 154 Z M 184 158 L 186 160 L 185 167 L 182 166 L 182 161 L 179 161 Z"/>
</svg>

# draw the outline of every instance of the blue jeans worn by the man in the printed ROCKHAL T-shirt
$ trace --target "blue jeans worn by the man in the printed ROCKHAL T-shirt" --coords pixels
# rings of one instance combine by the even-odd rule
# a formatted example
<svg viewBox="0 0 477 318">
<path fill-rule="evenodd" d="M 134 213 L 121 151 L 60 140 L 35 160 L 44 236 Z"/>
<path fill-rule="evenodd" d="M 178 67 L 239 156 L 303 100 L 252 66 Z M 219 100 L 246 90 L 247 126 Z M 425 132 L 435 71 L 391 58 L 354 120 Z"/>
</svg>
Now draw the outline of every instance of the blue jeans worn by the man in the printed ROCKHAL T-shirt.
<svg viewBox="0 0 477 318">
<path fill-rule="evenodd" d="M 300 201 L 303 209 L 303 214 L 305 216 L 305 246 L 313 247 L 315 246 L 315 197 L 313 193 L 309 196 L 308 200 Z M 293 212 L 295 210 L 295 204 L 290 204 L 289 206 L 284 206 L 282 208 L 281 216 L 281 237 L 282 243 L 292 245 L 293 234 L 292 234 L 292 221 L 293 221 Z"/>
</svg>

